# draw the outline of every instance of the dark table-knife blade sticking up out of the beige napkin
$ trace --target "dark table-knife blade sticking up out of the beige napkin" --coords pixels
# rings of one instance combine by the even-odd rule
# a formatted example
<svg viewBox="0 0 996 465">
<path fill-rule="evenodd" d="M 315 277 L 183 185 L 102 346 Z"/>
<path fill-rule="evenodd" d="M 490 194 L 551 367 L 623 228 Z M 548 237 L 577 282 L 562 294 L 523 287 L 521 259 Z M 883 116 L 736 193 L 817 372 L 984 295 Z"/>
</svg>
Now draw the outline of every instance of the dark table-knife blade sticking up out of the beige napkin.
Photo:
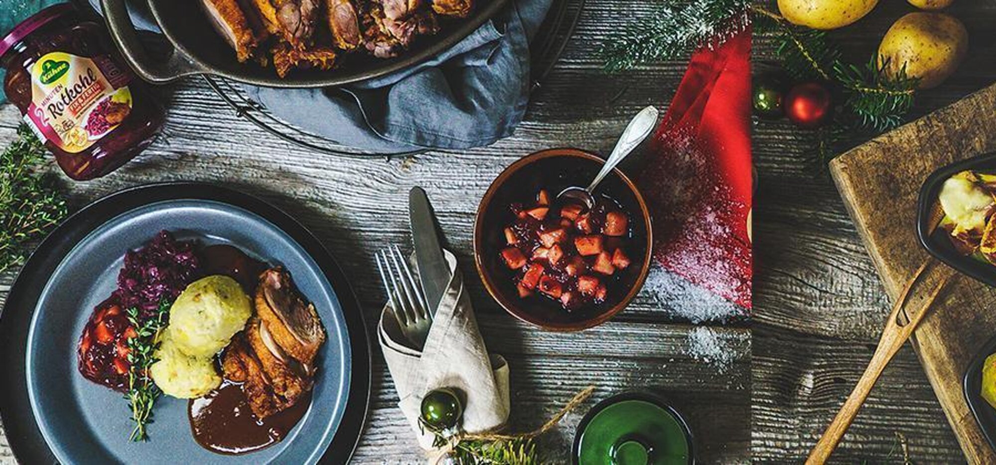
<svg viewBox="0 0 996 465">
<path fill-rule="evenodd" d="M 408 216 L 411 222 L 411 241 L 415 247 L 415 263 L 422 292 L 428 302 L 428 311 L 435 315 L 436 307 L 449 284 L 449 265 L 442 253 L 442 236 L 436 226 L 432 204 L 420 187 L 408 193 Z"/>
</svg>

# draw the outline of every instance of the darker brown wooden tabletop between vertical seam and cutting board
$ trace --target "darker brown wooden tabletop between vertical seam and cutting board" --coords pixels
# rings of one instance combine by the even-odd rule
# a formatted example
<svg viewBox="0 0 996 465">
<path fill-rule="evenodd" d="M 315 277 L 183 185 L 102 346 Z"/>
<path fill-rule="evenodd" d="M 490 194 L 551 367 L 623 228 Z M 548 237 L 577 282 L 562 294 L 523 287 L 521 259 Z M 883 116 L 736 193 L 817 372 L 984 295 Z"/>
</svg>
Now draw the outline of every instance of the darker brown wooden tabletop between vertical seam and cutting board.
<svg viewBox="0 0 996 465">
<path fill-rule="evenodd" d="M 853 63 L 863 63 L 892 22 L 910 11 L 905 2 L 881 2 L 832 37 Z M 915 115 L 996 80 L 996 3 L 955 2 L 948 12 L 968 28 L 970 56 L 955 77 L 917 95 Z M 773 56 L 774 45 L 756 38 L 754 60 Z M 753 138 L 759 175 L 752 383 L 757 461 L 806 457 L 871 360 L 890 304 L 829 175 L 816 173 L 800 155 L 799 135 L 785 121 L 765 121 Z M 898 435 L 913 462 L 964 461 L 908 345 L 871 391 L 833 460 L 902 463 Z"/>
</svg>

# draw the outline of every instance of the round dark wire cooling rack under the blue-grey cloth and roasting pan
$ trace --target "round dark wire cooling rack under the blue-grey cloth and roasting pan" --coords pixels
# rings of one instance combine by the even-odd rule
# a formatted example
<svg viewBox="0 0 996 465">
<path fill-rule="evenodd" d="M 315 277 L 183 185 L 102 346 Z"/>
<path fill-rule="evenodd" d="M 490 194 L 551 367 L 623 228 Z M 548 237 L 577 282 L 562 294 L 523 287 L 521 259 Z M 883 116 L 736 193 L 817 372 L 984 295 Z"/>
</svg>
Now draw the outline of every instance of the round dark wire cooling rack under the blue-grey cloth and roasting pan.
<svg viewBox="0 0 996 465">
<path fill-rule="evenodd" d="M 544 20 L 543 25 L 540 26 L 539 33 L 533 39 L 533 44 L 530 46 L 530 57 L 532 57 L 530 69 L 533 72 L 531 91 L 535 92 L 542 86 L 542 82 L 550 75 L 550 72 L 553 71 L 554 66 L 564 54 L 568 43 L 574 37 L 578 22 L 585 9 L 585 2 L 586 0 L 554 0 L 547 18 Z M 240 117 L 249 120 L 270 135 L 310 150 L 337 156 L 358 158 L 368 158 L 374 155 L 391 158 L 413 155 L 429 150 L 419 149 L 385 154 L 350 147 L 282 120 L 260 103 L 250 99 L 237 83 L 229 79 L 206 75 L 203 78 Z"/>
</svg>

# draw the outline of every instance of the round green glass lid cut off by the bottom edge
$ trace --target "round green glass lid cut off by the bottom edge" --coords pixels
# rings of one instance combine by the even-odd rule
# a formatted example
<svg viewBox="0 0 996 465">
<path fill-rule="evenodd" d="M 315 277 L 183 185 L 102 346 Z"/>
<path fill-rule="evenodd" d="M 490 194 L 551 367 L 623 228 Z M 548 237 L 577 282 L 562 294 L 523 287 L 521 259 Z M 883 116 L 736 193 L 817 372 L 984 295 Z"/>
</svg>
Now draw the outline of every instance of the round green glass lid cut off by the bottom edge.
<svg viewBox="0 0 996 465">
<path fill-rule="evenodd" d="M 575 433 L 575 465 L 694 463 L 684 418 L 659 397 L 627 392 L 599 402 Z"/>
</svg>

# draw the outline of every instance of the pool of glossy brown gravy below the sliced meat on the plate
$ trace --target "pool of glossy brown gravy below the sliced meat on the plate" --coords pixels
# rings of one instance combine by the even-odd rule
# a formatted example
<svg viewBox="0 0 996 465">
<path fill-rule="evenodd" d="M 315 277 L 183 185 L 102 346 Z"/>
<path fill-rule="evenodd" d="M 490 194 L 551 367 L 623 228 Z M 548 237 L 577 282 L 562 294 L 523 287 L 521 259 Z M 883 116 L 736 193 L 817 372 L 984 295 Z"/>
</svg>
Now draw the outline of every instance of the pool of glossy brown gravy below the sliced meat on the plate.
<svg viewBox="0 0 996 465">
<path fill-rule="evenodd" d="M 225 381 L 209 394 L 187 404 L 190 429 L 198 444 L 220 454 L 245 454 L 287 437 L 311 405 L 311 393 L 290 408 L 259 419 L 240 384 Z"/>
</svg>

